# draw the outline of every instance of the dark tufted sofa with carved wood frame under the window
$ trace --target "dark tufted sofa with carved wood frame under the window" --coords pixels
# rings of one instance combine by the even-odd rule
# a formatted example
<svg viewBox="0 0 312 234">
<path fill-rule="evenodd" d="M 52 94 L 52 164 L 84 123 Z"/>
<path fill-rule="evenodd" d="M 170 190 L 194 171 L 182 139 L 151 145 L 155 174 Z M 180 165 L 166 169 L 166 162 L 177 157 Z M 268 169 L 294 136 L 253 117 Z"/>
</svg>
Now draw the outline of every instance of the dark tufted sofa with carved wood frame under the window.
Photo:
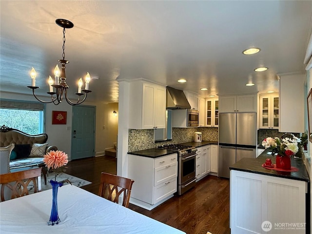
<svg viewBox="0 0 312 234">
<path fill-rule="evenodd" d="M 43 156 L 51 150 L 58 150 L 56 146 L 49 146 L 47 140 L 48 135 L 45 133 L 30 135 L 5 125 L 0 127 L 0 147 L 15 144 L 10 155 L 10 171 L 42 167 L 45 184 L 47 168 Z"/>
</svg>

